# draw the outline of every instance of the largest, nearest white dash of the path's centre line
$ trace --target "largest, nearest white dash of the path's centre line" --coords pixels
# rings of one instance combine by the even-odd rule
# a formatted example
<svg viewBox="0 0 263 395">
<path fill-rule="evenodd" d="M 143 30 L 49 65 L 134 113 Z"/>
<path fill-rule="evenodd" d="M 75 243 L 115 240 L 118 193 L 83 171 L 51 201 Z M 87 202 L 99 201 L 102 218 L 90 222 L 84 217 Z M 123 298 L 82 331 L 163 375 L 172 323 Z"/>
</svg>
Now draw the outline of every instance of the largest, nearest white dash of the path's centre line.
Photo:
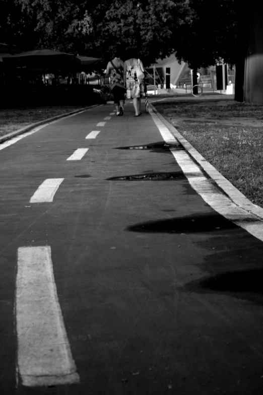
<svg viewBox="0 0 263 395">
<path fill-rule="evenodd" d="M 25 386 L 79 383 L 53 275 L 50 246 L 18 248 L 17 381 Z"/>
</svg>

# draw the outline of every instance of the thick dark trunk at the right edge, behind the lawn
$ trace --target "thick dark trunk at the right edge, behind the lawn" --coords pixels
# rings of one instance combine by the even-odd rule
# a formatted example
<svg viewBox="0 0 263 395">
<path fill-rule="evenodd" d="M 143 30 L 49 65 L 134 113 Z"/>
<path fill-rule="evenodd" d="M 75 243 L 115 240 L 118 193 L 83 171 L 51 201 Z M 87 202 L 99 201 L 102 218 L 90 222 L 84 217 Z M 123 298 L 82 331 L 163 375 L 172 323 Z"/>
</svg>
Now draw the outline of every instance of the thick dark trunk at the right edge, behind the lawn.
<svg viewBox="0 0 263 395">
<path fill-rule="evenodd" d="M 262 19 L 263 9 L 259 0 L 253 0 L 239 18 L 235 83 L 237 101 L 263 103 Z"/>
</svg>

